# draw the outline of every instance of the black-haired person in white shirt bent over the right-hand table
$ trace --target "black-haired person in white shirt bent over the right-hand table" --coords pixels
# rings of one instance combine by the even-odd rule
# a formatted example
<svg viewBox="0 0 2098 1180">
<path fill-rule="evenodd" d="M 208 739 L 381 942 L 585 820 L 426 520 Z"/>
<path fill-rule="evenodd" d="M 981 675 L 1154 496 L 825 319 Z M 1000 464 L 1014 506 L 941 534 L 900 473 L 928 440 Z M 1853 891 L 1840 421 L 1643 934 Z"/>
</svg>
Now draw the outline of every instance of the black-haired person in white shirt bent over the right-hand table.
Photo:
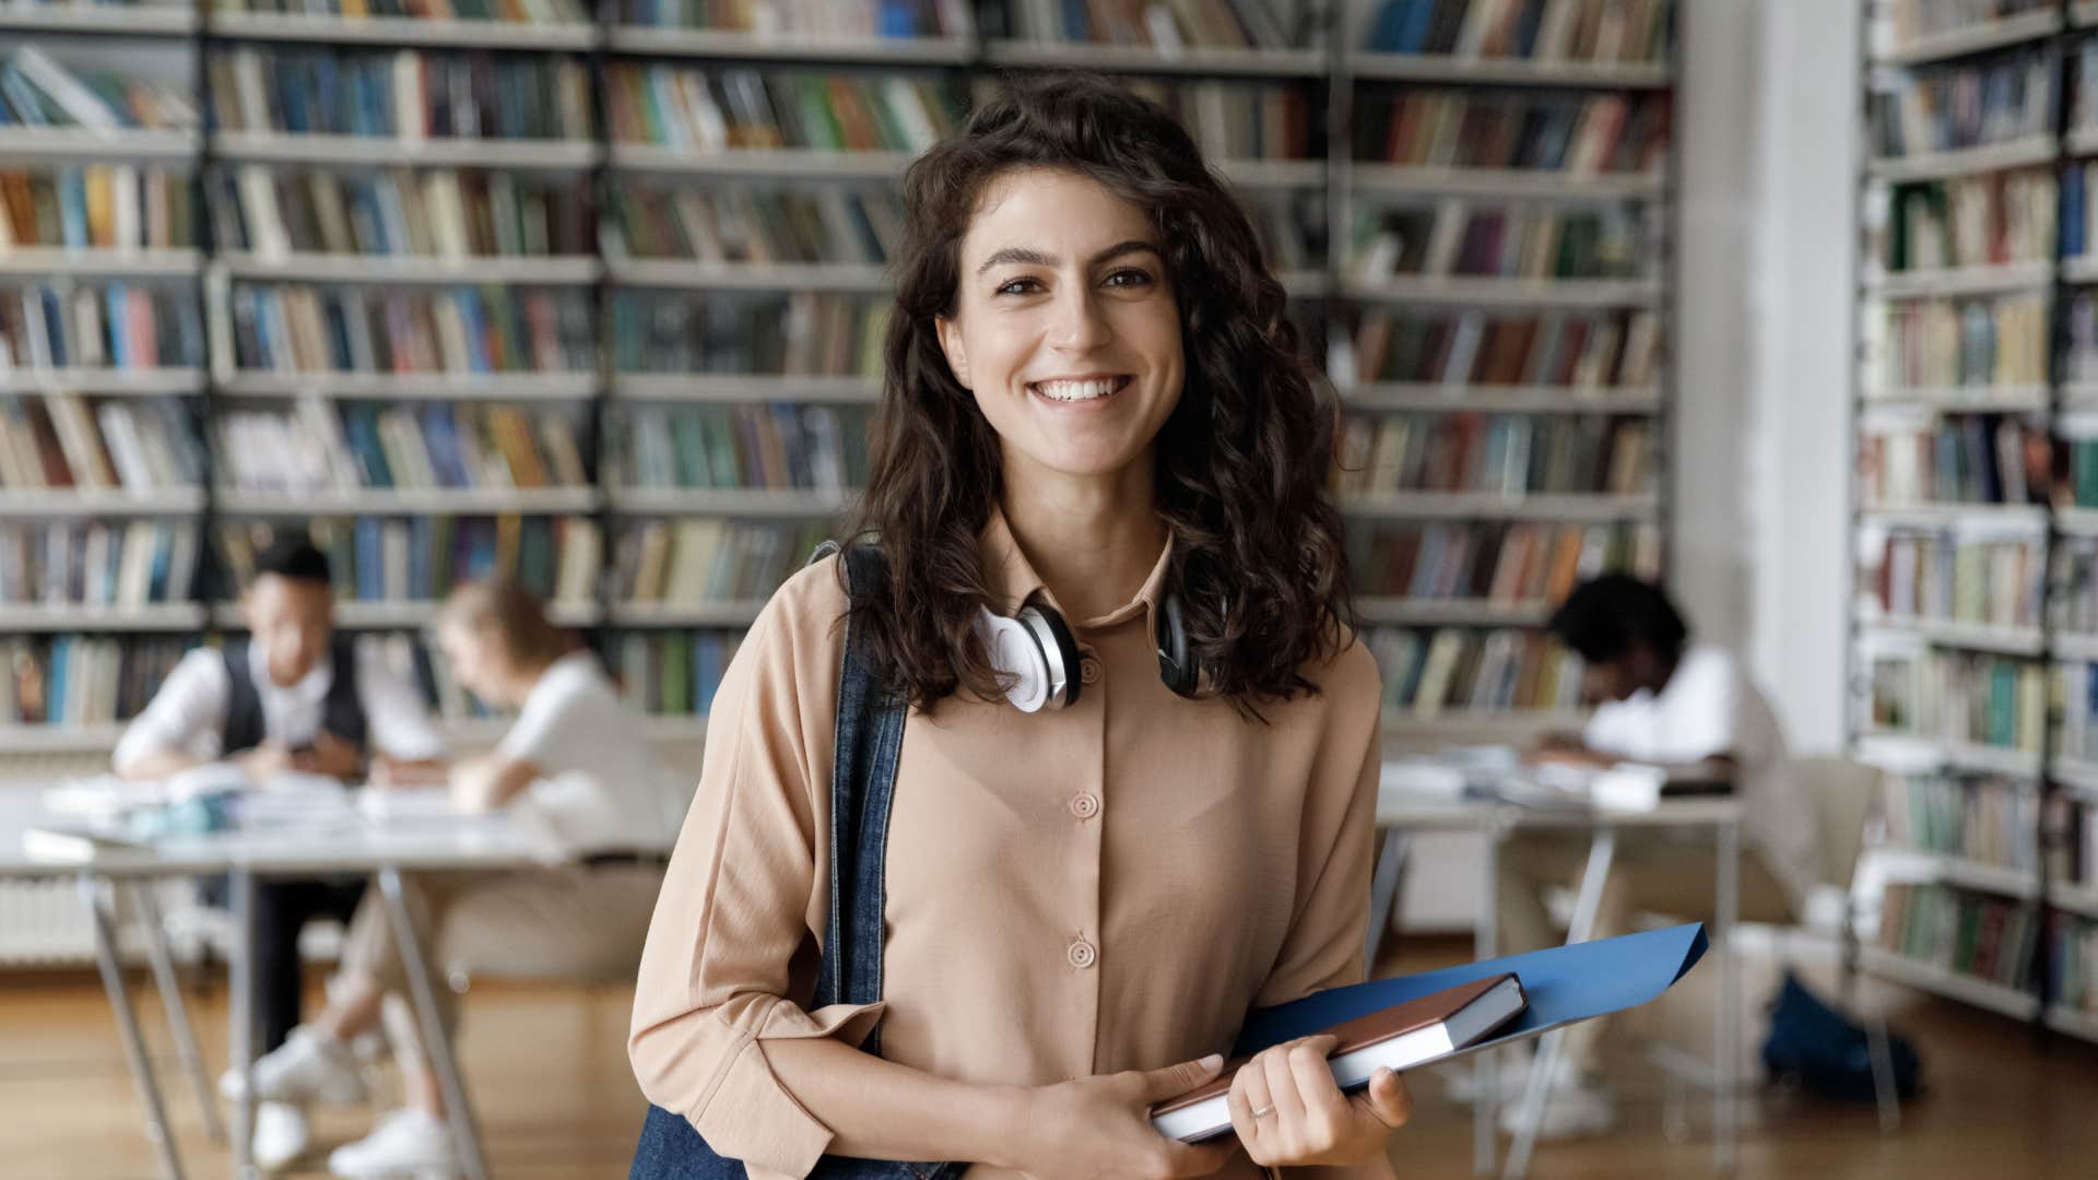
<svg viewBox="0 0 2098 1180">
<path fill-rule="evenodd" d="M 1540 760 L 1668 766 L 1678 775 L 1720 775 L 1743 804 L 1739 901 L 1743 922 L 1787 922 L 1813 884 L 1815 813 L 1785 762 L 1771 703 L 1716 647 L 1689 647 L 1683 615 L 1657 586 L 1611 573 L 1582 584 L 1550 621 L 1582 657 L 1582 695 L 1597 703 L 1580 737 L 1548 739 Z M 1544 909 L 1553 886 L 1576 886 L 1588 834 L 1519 834 L 1500 855 L 1504 953 L 1557 945 Z M 1603 886 L 1594 939 L 1628 932 L 1636 911 L 1710 918 L 1716 909 L 1710 836 L 1626 834 Z M 1607 1130 L 1615 1111 L 1599 1075 L 1603 1020 L 1567 1029 L 1553 1077 L 1544 1136 Z M 1515 1088 L 1523 1071 L 1504 1071 Z M 1502 1111 L 1515 1121 L 1513 1107 Z"/>
</svg>

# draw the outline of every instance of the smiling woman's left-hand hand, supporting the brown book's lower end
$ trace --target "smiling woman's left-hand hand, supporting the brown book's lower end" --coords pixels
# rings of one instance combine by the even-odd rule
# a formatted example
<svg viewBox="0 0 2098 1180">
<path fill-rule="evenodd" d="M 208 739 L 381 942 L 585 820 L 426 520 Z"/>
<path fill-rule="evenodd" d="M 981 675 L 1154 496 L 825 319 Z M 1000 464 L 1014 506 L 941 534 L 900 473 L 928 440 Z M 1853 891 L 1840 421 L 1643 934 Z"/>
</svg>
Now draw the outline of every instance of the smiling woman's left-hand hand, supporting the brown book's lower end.
<svg viewBox="0 0 2098 1180">
<path fill-rule="evenodd" d="M 1202 1086 L 1223 1069 L 1206 1056 L 1166 1069 L 1080 1077 L 1022 1092 L 1018 1125 L 1001 1163 L 1036 1180 L 1179 1180 L 1208 1176 L 1232 1159 L 1229 1140 L 1185 1144 L 1158 1134 L 1152 1104 Z"/>
</svg>

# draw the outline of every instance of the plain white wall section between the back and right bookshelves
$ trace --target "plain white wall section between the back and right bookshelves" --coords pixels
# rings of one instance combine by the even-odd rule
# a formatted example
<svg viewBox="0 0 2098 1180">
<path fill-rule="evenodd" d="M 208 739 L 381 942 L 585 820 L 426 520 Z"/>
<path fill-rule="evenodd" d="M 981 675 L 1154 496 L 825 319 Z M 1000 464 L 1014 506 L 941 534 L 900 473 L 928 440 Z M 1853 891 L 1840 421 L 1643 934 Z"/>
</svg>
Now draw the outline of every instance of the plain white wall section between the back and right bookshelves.
<svg viewBox="0 0 2098 1180">
<path fill-rule="evenodd" d="M 1844 737 L 1857 4 L 1683 0 L 1672 582 L 1796 752 Z"/>
</svg>

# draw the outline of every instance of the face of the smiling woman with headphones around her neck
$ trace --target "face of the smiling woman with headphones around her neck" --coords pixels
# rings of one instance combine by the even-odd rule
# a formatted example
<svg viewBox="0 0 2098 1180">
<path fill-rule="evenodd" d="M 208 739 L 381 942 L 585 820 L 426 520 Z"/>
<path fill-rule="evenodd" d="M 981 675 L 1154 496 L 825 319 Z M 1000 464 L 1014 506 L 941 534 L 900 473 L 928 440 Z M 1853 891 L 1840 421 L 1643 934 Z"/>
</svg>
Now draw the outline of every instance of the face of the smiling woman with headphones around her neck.
<svg viewBox="0 0 2098 1180">
<path fill-rule="evenodd" d="M 948 367 L 1003 443 L 1007 479 L 1143 464 L 1185 378 L 1162 241 L 1135 204 L 1074 172 L 984 189 L 961 239 Z"/>
</svg>

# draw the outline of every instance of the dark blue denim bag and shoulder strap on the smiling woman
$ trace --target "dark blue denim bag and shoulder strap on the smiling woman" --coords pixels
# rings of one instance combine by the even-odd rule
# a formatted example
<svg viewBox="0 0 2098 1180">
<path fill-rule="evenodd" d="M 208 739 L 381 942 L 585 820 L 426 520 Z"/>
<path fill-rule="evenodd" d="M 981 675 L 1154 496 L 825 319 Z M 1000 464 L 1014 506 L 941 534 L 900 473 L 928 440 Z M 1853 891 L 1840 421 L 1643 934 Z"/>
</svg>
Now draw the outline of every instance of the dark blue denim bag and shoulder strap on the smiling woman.
<svg viewBox="0 0 2098 1180">
<path fill-rule="evenodd" d="M 825 542 L 810 563 L 843 552 L 845 588 L 854 603 L 879 594 L 887 559 L 875 546 L 841 550 Z M 881 913 L 887 865 L 890 802 L 904 743 L 904 705 L 887 693 L 866 655 L 866 636 L 845 626 L 845 657 L 837 680 L 837 743 L 831 768 L 831 918 L 822 932 L 812 1008 L 881 999 Z M 860 1044 L 881 1052 L 877 1025 Z M 825 1155 L 816 1180 L 959 1180 L 961 1163 L 898 1163 Z M 682 1115 L 648 1107 L 627 1180 L 745 1180 L 743 1163 L 707 1146 Z"/>
</svg>

